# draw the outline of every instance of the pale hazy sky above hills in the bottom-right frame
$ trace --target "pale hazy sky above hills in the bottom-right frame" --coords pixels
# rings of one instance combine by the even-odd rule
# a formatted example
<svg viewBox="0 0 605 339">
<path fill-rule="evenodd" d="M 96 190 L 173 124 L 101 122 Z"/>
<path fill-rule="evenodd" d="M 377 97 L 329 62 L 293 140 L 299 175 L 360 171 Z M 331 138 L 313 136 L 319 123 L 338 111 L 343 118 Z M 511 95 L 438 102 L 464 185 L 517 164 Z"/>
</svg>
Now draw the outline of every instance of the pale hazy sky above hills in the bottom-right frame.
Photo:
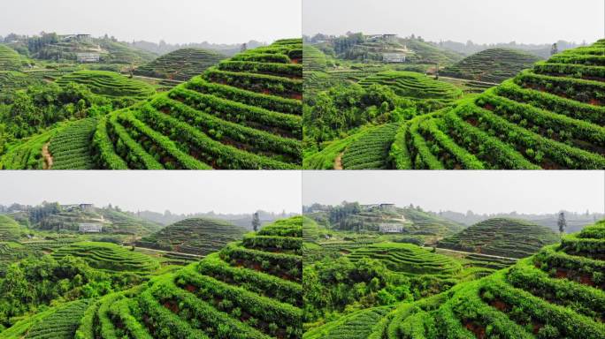
<svg viewBox="0 0 605 339">
<path fill-rule="evenodd" d="M 419 205 L 438 212 L 605 212 L 605 171 L 305 171 L 303 204 Z"/>
</svg>

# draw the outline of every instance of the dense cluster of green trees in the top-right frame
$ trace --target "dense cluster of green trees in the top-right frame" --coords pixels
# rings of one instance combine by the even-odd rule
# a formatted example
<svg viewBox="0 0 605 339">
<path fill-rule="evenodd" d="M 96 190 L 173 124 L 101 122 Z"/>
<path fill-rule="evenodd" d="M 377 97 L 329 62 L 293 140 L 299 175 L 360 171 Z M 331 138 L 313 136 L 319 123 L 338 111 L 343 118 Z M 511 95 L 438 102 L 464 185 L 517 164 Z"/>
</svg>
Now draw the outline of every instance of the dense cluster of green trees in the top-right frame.
<svg viewBox="0 0 605 339">
<path fill-rule="evenodd" d="M 305 138 L 322 142 L 341 138 L 348 130 L 370 122 L 387 123 L 415 114 L 413 102 L 380 85 L 340 85 L 319 93 L 303 107 Z"/>
</svg>

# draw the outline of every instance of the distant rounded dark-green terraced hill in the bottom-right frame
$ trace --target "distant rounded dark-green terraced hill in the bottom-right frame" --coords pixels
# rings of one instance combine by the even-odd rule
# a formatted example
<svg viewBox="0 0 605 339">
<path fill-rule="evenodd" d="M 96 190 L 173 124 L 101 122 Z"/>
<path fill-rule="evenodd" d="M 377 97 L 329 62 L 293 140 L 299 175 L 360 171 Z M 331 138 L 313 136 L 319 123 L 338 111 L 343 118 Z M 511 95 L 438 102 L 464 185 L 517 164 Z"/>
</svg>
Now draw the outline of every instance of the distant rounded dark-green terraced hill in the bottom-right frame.
<svg viewBox="0 0 605 339">
<path fill-rule="evenodd" d="M 463 252 L 524 258 L 558 240 L 558 235 L 546 226 L 523 220 L 494 218 L 446 237 L 437 246 Z"/>
</svg>

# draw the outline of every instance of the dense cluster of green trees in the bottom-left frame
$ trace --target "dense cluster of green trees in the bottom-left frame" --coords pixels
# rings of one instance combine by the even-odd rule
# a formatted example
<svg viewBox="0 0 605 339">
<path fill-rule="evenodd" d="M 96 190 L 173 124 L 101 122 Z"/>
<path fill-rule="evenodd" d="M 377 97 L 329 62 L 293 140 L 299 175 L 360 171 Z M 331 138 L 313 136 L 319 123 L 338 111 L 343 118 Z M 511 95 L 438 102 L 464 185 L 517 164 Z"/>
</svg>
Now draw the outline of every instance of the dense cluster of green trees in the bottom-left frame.
<svg viewBox="0 0 605 339">
<path fill-rule="evenodd" d="M 11 318 L 42 312 L 48 305 L 80 298 L 98 298 L 142 283 L 134 273 L 109 274 L 79 258 L 28 258 L 8 267 L 0 278 L 0 330 Z"/>
</svg>

